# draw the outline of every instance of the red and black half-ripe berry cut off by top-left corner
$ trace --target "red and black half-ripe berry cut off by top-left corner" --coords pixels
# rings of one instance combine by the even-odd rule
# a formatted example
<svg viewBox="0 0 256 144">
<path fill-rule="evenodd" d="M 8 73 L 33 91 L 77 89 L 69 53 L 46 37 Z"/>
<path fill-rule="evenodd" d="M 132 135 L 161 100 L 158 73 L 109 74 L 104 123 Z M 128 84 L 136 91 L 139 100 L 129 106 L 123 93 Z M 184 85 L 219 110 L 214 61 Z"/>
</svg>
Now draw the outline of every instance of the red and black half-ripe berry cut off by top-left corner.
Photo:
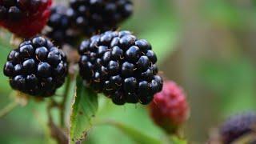
<svg viewBox="0 0 256 144">
<path fill-rule="evenodd" d="M 52 0 L 0 0 L 0 26 L 22 38 L 41 32 L 50 17 Z"/>
</svg>

